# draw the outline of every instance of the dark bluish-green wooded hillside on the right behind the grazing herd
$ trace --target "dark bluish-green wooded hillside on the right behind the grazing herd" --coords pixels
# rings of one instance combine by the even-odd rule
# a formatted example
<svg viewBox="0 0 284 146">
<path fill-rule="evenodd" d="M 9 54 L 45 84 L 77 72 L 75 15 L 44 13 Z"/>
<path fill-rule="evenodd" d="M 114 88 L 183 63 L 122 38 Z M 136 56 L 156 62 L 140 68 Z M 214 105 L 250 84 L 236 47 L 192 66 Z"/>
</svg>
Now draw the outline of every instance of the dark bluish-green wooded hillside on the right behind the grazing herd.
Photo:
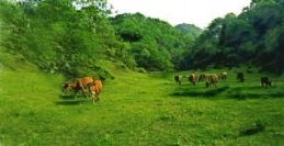
<svg viewBox="0 0 284 146">
<path fill-rule="evenodd" d="M 284 71 L 284 1 L 253 0 L 239 15 L 215 19 L 196 40 L 189 67 L 243 63 Z"/>
</svg>

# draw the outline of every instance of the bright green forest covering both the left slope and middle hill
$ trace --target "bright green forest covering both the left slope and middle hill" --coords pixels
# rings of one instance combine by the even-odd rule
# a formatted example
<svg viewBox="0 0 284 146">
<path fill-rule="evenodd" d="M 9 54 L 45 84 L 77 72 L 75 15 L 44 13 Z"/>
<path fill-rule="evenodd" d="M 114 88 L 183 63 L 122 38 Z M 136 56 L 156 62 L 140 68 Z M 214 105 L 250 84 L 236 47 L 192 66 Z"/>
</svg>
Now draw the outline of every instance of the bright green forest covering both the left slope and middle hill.
<svg viewBox="0 0 284 146">
<path fill-rule="evenodd" d="M 0 0 L 1 52 L 22 54 L 49 74 L 112 78 L 105 64 L 134 70 L 184 68 L 193 45 L 164 21 L 110 18 L 105 0 Z"/>
</svg>

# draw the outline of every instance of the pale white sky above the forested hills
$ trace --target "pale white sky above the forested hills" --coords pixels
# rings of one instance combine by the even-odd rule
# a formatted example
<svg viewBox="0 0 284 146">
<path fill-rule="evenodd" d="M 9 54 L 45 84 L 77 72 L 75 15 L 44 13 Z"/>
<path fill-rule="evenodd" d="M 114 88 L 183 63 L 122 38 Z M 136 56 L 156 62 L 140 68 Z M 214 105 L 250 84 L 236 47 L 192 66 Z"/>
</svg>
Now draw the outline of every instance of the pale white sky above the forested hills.
<svg viewBox="0 0 284 146">
<path fill-rule="evenodd" d="M 239 14 L 251 0 L 107 0 L 113 11 L 121 13 L 139 12 L 160 19 L 173 26 L 181 23 L 195 24 L 205 29 L 214 19 L 227 13 Z"/>
</svg>

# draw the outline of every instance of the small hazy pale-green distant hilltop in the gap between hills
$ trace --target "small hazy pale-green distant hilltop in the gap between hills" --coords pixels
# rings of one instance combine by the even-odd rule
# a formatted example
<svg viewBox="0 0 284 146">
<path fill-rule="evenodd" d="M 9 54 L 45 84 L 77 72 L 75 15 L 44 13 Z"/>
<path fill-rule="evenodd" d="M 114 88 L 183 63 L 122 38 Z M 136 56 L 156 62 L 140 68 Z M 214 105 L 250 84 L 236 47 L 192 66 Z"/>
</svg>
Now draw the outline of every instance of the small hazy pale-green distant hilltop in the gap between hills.
<svg viewBox="0 0 284 146">
<path fill-rule="evenodd" d="M 185 23 L 183 23 L 183 24 L 179 24 L 179 25 L 177 25 L 174 27 L 178 29 L 183 34 L 191 35 L 194 38 L 198 37 L 201 35 L 201 33 L 202 33 L 202 29 L 195 26 L 194 24 L 185 24 Z"/>
</svg>

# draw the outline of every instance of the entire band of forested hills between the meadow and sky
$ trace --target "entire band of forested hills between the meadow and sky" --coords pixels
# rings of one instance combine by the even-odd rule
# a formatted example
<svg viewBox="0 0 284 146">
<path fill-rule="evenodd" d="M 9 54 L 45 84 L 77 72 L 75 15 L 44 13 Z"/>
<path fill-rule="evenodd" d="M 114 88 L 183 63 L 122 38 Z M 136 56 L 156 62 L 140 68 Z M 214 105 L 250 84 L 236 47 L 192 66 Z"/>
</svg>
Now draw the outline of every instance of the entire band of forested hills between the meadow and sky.
<svg viewBox="0 0 284 146">
<path fill-rule="evenodd" d="M 111 78 L 100 60 L 133 70 L 252 64 L 283 72 L 284 0 L 252 0 L 204 31 L 140 13 L 112 18 L 106 0 L 0 2 L 0 50 L 50 74 Z"/>
</svg>

